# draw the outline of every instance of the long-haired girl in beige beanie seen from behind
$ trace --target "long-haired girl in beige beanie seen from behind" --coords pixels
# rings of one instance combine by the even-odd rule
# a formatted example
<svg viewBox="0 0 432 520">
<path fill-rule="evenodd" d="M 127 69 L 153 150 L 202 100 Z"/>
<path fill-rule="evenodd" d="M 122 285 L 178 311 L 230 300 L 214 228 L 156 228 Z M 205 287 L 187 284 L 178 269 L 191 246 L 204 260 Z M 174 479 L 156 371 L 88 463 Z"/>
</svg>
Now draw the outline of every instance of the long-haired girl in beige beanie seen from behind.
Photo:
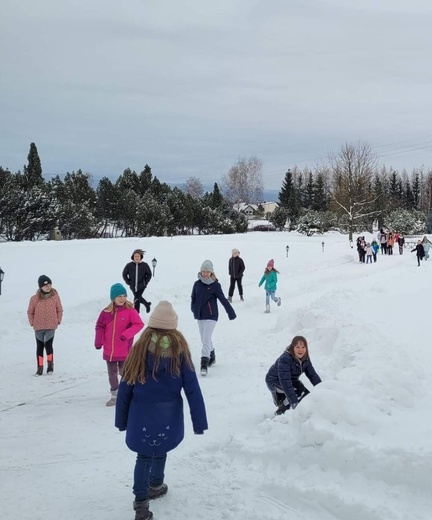
<svg viewBox="0 0 432 520">
<path fill-rule="evenodd" d="M 191 353 L 171 303 L 161 301 L 127 358 L 115 425 L 137 453 L 133 493 L 135 520 L 150 520 L 149 500 L 164 496 L 167 452 L 184 437 L 182 389 L 195 434 L 208 429 L 204 399 Z"/>
</svg>

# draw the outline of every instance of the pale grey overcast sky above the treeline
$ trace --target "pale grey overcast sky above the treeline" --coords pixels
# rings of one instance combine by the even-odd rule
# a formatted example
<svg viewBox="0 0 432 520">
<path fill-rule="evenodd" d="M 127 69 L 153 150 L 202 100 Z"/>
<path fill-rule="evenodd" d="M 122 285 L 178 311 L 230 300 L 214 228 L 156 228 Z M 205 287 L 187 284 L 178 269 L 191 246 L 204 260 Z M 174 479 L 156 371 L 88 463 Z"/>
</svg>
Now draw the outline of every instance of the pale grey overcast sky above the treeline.
<svg viewBox="0 0 432 520">
<path fill-rule="evenodd" d="M 432 167 L 430 0 L 1 0 L 0 165 L 267 189 L 345 142 Z"/>
</svg>

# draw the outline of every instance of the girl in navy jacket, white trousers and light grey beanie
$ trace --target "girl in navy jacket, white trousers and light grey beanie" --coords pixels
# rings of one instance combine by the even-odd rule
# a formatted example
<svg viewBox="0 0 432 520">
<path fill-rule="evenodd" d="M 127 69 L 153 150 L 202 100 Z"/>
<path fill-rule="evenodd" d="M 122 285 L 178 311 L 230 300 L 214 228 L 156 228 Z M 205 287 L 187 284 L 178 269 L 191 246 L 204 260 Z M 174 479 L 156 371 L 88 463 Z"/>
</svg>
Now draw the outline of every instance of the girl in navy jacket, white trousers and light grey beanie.
<svg viewBox="0 0 432 520">
<path fill-rule="evenodd" d="M 198 280 L 192 287 L 191 311 L 198 321 L 201 336 L 201 375 L 206 376 L 208 367 L 216 363 L 212 334 L 219 318 L 217 301 L 224 306 L 228 318 L 234 320 L 237 316 L 234 309 L 225 298 L 221 284 L 218 282 L 210 260 L 204 260 L 198 273 Z"/>
</svg>

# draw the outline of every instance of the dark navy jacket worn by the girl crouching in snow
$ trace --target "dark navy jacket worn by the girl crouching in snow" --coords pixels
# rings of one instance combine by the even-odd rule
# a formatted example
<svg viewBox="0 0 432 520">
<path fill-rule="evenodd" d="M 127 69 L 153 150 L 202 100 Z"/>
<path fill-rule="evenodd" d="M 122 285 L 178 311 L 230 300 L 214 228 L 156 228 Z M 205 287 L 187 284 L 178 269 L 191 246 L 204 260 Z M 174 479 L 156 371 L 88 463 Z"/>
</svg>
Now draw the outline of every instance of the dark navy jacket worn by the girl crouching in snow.
<svg viewBox="0 0 432 520">
<path fill-rule="evenodd" d="M 300 361 L 286 350 L 270 367 L 266 375 L 266 383 L 270 387 L 283 390 L 290 404 L 296 405 L 298 398 L 293 387 L 293 381 L 298 381 L 303 372 L 314 386 L 321 383 L 321 378 L 315 372 L 309 358 Z"/>
</svg>

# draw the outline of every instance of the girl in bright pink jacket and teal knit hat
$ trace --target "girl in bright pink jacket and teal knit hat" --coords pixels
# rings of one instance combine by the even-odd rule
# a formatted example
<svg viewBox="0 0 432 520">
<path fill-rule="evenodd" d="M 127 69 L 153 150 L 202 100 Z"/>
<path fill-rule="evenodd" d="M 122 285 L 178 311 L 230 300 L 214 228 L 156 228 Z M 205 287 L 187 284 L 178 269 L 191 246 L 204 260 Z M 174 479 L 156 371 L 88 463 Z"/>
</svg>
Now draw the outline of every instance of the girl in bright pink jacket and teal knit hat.
<svg viewBox="0 0 432 520">
<path fill-rule="evenodd" d="M 110 290 L 111 303 L 99 315 L 96 322 L 95 347 L 103 347 L 103 358 L 108 368 L 111 399 L 107 406 L 114 406 L 123 364 L 132 348 L 133 338 L 144 323 L 131 302 L 126 299 L 126 288 L 116 283 Z"/>
</svg>

